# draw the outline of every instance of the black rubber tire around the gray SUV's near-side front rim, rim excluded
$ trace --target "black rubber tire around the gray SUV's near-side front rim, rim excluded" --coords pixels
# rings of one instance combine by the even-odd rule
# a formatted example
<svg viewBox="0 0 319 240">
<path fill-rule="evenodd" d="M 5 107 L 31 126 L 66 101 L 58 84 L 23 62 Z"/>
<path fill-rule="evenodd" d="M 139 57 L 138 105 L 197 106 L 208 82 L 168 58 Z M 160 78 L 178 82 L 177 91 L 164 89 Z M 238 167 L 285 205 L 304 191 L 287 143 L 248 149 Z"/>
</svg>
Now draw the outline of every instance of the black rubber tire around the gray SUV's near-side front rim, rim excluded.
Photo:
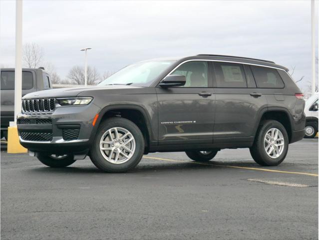
<svg viewBox="0 0 319 240">
<path fill-rule="evenodd" d="M 127 129 L 132 133 L 135 139 L 135 151 L 133 153 L 133 156 L 128 161 L 121 164 L 114 164 L 107 161 L 100 152 L 99 145 L 102 135 L 105 133 L 105 131 L 113 127 L 122 127 Z M 134 122 L 121 117 L 112 117 L 100 124 L 90 149 L 90 157 L 93 164 L 99 169 L 106 172 L 125 172 L 135 167 L 141 160 L 143 153 L 144 137 L 141 130 Z"/>
</svg>

